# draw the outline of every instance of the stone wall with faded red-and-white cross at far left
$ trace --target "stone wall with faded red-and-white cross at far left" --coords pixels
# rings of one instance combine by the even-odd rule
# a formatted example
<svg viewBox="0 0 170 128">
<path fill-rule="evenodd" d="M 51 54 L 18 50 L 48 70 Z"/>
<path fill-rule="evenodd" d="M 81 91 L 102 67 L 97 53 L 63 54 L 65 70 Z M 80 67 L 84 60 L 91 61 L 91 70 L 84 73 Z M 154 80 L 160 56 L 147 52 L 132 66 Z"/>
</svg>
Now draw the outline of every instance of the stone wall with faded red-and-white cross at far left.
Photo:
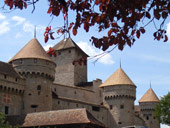
<svg viewBox="0 0 170 128">
<path fill-rule="evenodd" d="M 24 79 L 0 74 L 0 112 L 6 115 L 22 114 L 24 89 Z"/>
</svg>

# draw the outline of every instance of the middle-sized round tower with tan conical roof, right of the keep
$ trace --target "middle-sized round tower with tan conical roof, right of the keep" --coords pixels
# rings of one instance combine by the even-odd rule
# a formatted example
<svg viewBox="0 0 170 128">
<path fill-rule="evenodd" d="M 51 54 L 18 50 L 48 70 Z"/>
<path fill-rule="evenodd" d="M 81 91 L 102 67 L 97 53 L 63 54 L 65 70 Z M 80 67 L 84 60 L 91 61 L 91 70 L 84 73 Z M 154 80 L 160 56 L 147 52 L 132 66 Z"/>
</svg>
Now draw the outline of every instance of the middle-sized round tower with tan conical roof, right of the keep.
<svg viewBox="0 0 170 128">
<path fill-rule="evenodd" d="M 103 88 L 103 103 L 115 121 L 110 127 L 134 125 L 136 86 L 123 69 L 119 68 L 100 87 Z"/>
</svg>

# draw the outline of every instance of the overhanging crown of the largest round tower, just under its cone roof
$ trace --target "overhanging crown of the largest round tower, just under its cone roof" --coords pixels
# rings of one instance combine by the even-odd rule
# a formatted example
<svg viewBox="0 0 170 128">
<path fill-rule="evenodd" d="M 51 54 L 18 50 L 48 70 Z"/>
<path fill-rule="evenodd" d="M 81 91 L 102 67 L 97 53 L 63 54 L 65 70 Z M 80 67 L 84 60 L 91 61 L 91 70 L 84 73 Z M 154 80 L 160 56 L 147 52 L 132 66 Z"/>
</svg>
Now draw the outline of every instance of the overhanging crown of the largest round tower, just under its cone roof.
<svg viewBox="0 0 170 128">
<path fill-rule="evenodd" d="M 12 62 L 15 70 L 22 76 L 40 75 L 54 80 L 55 64 L 42 59 L 18 59 Z"/>
</svg>

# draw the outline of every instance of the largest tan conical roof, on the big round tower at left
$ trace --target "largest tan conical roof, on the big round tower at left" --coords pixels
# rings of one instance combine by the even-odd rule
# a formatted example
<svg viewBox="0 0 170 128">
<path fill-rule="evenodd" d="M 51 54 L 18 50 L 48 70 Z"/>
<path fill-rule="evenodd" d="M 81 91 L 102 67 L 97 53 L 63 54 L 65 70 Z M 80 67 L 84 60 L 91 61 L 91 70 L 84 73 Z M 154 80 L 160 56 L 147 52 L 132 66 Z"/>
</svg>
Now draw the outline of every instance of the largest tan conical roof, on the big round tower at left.
<svg viewBox="0 0 170 128">
<path fill-rule="evenodd" d="M 52 61 L 36 38 L 29 41 L 9 62 L 26 58 L 38 58 Z"/>
</svg>

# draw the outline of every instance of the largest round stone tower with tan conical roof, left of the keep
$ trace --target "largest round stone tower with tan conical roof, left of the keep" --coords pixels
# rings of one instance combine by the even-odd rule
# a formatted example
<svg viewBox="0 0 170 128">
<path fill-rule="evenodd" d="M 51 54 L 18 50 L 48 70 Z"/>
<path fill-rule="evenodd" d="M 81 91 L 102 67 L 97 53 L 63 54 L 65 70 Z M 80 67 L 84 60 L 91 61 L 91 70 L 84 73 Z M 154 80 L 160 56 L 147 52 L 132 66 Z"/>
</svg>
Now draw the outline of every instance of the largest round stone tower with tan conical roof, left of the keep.
<svg viewBox="0 0 170 128">
<path fill-rule="evenodd" d="M 26 80 L 23 113 L 51 110 L 55 63 L 38 40 L 28 42 L 9 63 Z"/>
</svg>

